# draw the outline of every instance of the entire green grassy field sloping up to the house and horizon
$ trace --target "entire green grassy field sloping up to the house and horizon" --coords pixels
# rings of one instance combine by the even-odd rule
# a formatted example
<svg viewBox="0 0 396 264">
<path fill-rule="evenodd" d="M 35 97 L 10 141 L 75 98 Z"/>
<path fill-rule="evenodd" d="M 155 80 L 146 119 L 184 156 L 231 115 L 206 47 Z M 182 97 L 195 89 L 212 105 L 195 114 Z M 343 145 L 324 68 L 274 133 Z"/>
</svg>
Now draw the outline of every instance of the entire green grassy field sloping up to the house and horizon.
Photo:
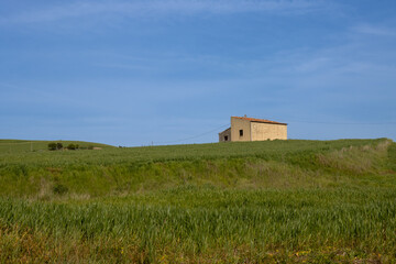
<svg viewBox="0 0 396 264">
<path fill-rule="evenodd" d="M 1 263 L 396 263 L 391 140 L 47 144 L 0 141 Z"/>
</svg>

